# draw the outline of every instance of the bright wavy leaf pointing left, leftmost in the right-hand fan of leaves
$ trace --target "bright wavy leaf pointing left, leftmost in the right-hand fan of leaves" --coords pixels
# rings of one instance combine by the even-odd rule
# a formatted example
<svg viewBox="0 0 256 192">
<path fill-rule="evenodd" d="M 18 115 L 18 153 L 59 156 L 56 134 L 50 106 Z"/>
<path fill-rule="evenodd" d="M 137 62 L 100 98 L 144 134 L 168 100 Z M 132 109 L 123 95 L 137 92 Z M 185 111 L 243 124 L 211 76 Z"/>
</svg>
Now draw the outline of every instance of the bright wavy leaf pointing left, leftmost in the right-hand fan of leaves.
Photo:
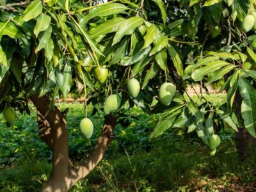
<svg viewBox="0 0 256 192">
<path fill-rule="evenodd" d="M 196 70 L 194 70 L 191 74 L 191 77 L 195 81 L 200 81 L 200 80 L 204 79 L 204 76 L 206 74 L 209 74 L 211 72 L 219 70 L 221 67 L 225 67 L 227 65 L 230 65 L 230 63 L 227 63 L 225 61 L 220 61 L 220 60 L 219 61 L 212 61 L 211 63 L 209 63 L 205 67 L 197 68 Z"/>
</svg>

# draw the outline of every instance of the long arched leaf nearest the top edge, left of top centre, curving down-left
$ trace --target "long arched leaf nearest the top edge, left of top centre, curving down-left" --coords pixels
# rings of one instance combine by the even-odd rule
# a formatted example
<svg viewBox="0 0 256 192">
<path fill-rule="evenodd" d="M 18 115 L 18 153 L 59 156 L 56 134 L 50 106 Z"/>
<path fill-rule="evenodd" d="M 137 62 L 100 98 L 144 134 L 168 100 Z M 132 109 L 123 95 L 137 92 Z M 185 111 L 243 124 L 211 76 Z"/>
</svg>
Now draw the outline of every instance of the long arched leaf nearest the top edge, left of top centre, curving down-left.
<svg viewBox="0 0 256 192">
<path fill-rule="evenodd" d="M 97 8 L 93 8 L 88 12 L 88 14 L 80 20 L 79 24 L 85 26 L 88 20 L 93 19 L 94 17 L 104 17 L 108 15 L 113 15 L 116 13 L 124 12 L 128 7 L 124 4 L 120 3 L 110 3 L 104 6 L 99 6 Z"/>
</svg>

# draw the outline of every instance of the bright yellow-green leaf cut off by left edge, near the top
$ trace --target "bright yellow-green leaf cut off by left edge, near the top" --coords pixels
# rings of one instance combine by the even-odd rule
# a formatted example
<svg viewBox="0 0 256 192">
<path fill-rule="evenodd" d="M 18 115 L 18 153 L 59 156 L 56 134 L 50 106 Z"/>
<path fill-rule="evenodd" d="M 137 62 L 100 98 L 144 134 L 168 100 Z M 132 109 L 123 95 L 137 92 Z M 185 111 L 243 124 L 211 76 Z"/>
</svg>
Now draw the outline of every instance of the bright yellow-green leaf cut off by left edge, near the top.
<svg viewBox="0 0 256 192">
<path fill-rule="evenodd" d="M 8 35 L 10 36 L 10 38 L 23 37 L 22 33 L 19 31 L 17 26 L 13 24 L 13 22 L 8 22 L 8 23 L 0 22 L 0 33 L 1 32 L 2 32 L 2 35 Z"/>
</svg>

